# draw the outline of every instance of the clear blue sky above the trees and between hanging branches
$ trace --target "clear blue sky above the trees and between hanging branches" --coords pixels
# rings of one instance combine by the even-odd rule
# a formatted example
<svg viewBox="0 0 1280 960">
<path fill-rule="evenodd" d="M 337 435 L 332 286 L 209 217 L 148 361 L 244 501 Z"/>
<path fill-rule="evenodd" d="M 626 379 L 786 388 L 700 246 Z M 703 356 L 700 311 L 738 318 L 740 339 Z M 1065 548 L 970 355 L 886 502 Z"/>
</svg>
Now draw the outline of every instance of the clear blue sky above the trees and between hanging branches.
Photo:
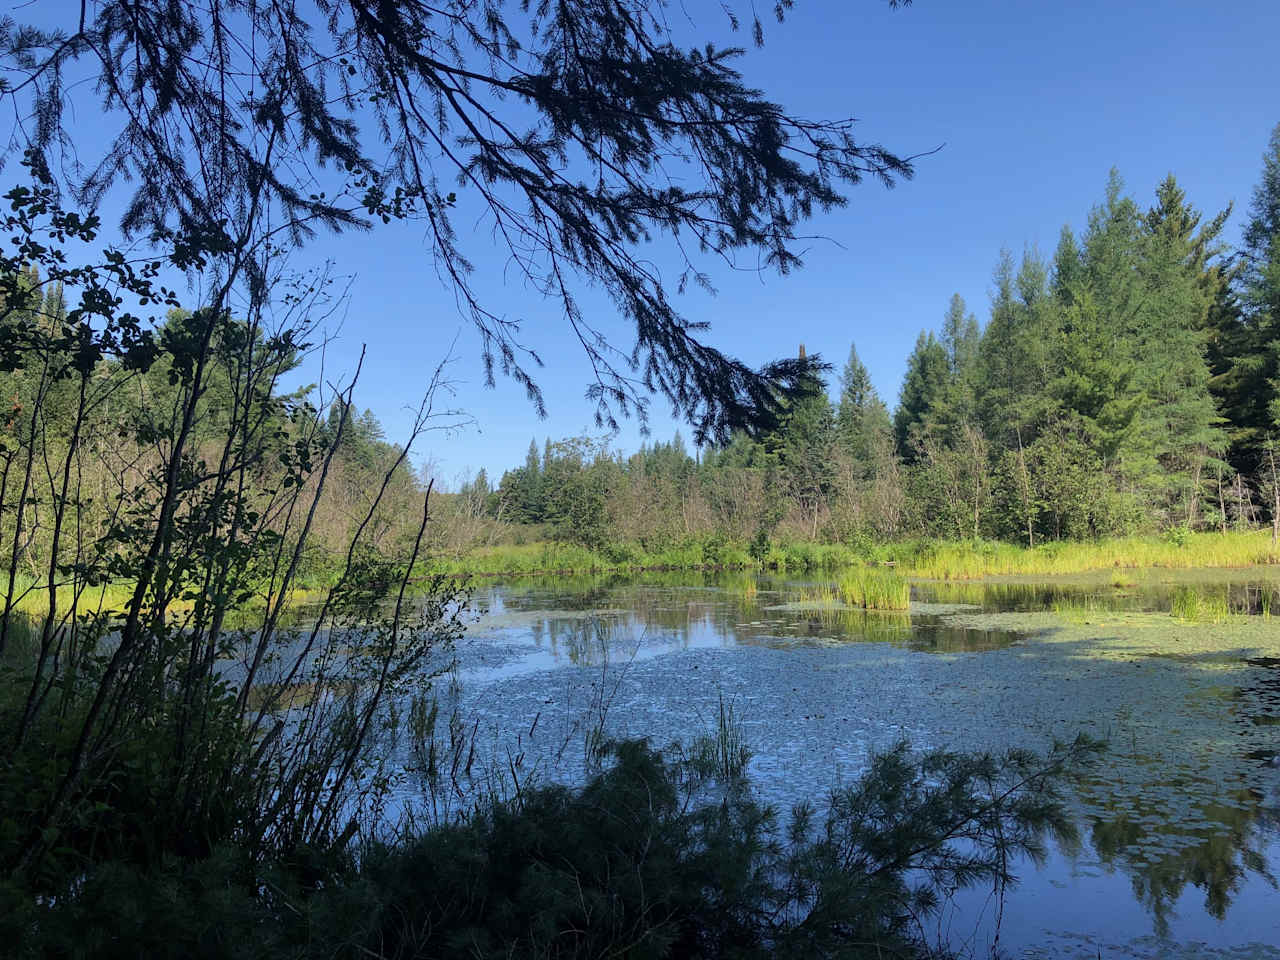
<svg viewBox="0 0 1280 960">
<path fill-rule="evenodd" d="M 681 6 L 694 20 L 681 26 L 690 38 L 735 42 L 717 0 L 675 3 L 673 19 Z M 681 307 L 710 321 L 712 343 L 751 364 L 792 355 L 803 342 L 838 372 L 856 343 L 892 406 L 916 334 L 937 326 L 951 294 L 986 321 L 1001 247 L 1051 253 L 1061 227 L 1079 228 L 1100 201 L 1111 166 L 1143 205 L 1169 172 L 1207 214 L 1234 202 L 1228 239 L 1236 241 L 1280 122 L 1277 64 L 1275 0 L 916 0 L 899 10 L 883 0 L 796 0 L 785 24 L 767 24 L 765 46 L 740 61 L 748 82 L 795 114 L 856 116 L 863 140 L 899 154 L 942 148 L 918 163 L 914 180 L 892 191 L 864 183 L 847 207 L 815 220 L 813 233 L 828 239 L 812 242 L 805 269 L 781 278 L 712 265 L 717 296 L 690 293 Z M 540 444 L 591 421 L 586 362 L 556 305 L 504 278 L 486 225 L 474 233 L 471 223 L 457 225 L 489 305 L 521 319 L 522 339 L 547 361 L 538 374 L 545 420 L 515 384 L 484 387 L 477 339 L 435 279 L 421 229 L 380 228 L 307 251 L 356 276 L 329 366 L 352 367 L 367 343 L 357 402 L 390 439 L 458 334 L 454 402 L 476 428 L 433 436 L 424 449 L 451 485 L 480 467 L 497 477 L 522 460 L 530 438 Z M 666 262 L 660 242 L 653 256 Z M 584 292 L 581 302 L 630 348 L 631 333 L 607 300 Z M 673 429 L 655 398 L 654 436 Z M 627 451 L 640 443 L 634 422 L 616 443 Z"/>
</svg>

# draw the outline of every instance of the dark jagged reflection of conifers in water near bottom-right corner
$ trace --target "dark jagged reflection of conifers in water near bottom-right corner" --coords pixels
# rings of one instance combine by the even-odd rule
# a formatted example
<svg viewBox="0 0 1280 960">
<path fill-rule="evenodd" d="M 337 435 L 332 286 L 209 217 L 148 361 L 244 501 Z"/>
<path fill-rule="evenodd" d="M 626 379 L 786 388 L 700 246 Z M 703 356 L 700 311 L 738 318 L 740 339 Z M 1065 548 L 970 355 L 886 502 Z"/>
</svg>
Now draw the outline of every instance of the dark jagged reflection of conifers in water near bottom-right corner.
<svg viewBox="0 0 1280 960">
<path fill-rule="evenodd" d="M 1114 783 L 1097 787 L 1106 796 L 1115 792 Z M 1174 795 L 1180 787 L 1165 788 Z M 1160 936 L 1167 934 L 1174 905 L 1188 884 L 1204 892 L 1206 911 L 1222 920 L 1247 877 L 1275 883 L 1263 851 L 1276 835 L 1276 812 L 1253 788 L 1226 796 L 1233 803 L 1196 806 L 1194 824 L 1144 797 L 1132 797 L 1128 809 L 1111 818 L 1092 818 L 1093 849 L 1105 864 L 1129 876 L 1134 897 L 1151 913 Z"/>
</svg>

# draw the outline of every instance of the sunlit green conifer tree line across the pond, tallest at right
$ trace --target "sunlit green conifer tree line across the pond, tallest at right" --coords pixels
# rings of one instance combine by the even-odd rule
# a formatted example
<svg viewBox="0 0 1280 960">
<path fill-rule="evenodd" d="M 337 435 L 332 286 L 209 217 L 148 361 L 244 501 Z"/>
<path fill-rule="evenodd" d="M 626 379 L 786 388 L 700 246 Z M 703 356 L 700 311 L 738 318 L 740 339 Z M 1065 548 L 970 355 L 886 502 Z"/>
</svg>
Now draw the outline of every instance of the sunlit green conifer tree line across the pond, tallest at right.
<svg viewBox="0 0 1280 960">
<path fill-rule="evenodd" d="M 1243 237 L 1174 175 L 1149 205 L 1111 173 L 1052 256 L 1000 255 L 979 324 L 951 298 L 908 357 L 897 406 L 856 347 L 835 399 L 815 375 L 772 428 L 691 452 L 530 443 L 490 517 L 599 547 L 685 536 L 1044 540 L 1276 518 L 1280 125 Z M 801 348 L 803 349 L 803 348 Z"/>
</svg>

